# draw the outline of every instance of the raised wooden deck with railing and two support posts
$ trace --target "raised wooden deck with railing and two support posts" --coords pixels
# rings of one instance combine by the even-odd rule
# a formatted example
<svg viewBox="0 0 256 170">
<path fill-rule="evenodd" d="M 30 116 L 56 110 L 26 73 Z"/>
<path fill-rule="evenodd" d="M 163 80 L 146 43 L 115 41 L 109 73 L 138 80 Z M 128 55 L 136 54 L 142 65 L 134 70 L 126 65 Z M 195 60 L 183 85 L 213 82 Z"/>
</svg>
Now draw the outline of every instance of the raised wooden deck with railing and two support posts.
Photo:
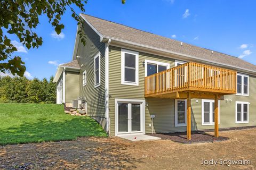
<svg viewBox="0 0 256 170">
<path fill-rule="evenodd" d="M 218 100 L 236 94 L 237 72 L 198 63 L 185 63 L 145 78 L 145 97 L 187 99 L 187 140 L 191 140 L 191 99 L 214 99 L 214 122 L 219 120 Z M 219 124 L 214 123 L 219 137 Z"/>
</svg>

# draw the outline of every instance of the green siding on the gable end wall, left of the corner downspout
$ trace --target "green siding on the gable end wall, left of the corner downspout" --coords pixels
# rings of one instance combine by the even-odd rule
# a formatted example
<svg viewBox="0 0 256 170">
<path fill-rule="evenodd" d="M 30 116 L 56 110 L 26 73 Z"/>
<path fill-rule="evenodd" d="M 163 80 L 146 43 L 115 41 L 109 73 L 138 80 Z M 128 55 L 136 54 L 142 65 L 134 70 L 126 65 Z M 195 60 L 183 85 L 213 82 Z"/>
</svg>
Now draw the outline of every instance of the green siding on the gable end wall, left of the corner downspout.
<svg viewBox="0 0 256 170">
<path fill-rule="evenodd" d="M 80 70 L 80 95 L 86 98 L 87 112 L 98 120 L 105 117 L 105 43 L 100 42 L 100 37 L 84 22 L 86 45 L 79 41 L 77 49 Z M 100 86 L 94 88 L 94 56 L 100 52 Z M 82 65 L 83 64 L 83 65 Z M 83 86 L 83 72 L 86 70 L 87 84 Z"/>
</svg>

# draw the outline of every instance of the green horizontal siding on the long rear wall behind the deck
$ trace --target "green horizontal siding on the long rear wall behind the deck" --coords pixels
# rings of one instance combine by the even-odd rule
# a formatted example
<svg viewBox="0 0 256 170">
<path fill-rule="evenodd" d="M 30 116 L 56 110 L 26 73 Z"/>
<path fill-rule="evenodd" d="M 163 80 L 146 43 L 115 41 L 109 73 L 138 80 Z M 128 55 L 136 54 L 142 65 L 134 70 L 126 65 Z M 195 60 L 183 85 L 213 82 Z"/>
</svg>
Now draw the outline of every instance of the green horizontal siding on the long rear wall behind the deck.
<svg viewBox="0 0 256 170">
<path fill-rule="evenodd" d="M 142 62 L 152 60 L 170 63 L 174 67 L 174 59 L 139 52 L 139 86 L 121 84 L 121 48 L 110 47 L 109 50 L 109 116 L 110 135 L 115 135 L 115 99 L 145 99 L 144 78 L 145 67 Z M 226 95 L 224 99 L 232 101 L 220 101 L 220 125 L 219 128 L 231 128 L 237 126 L 256 125 L 256 78 L 249 78 L 249 96 Z M 249 123 L 235 123 L 236 101 L 247 101 L 249 105 Z M 145 131 L 151 133 L 150 115 L 154 114 L 154 132 L 179 132 L 186 131 L 186 126 L 175 127 L 174 99 L 146 98 L 148 106 L 145 108 Z M 202 100 L 191 100 L 191 130 L 213 129 L 214 125 L 202 125 Z"/>
</svg>

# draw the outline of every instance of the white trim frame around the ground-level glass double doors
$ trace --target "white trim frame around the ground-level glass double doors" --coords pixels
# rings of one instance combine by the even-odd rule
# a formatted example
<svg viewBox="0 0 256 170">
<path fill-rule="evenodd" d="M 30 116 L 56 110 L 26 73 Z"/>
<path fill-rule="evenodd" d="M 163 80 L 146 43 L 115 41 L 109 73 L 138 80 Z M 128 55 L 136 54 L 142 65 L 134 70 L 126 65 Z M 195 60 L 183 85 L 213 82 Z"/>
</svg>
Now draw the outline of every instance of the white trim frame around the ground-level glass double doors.
<svg viewBox="0 0 256 170">
<path fill-rule="evenodd" d="M 118 103 L 141 103 L 141 131 L 140 132 L 118 132 Z M 145 100 L 140 99 L 115 99 L 115 135 L 145 134 Z"/>
</svg>

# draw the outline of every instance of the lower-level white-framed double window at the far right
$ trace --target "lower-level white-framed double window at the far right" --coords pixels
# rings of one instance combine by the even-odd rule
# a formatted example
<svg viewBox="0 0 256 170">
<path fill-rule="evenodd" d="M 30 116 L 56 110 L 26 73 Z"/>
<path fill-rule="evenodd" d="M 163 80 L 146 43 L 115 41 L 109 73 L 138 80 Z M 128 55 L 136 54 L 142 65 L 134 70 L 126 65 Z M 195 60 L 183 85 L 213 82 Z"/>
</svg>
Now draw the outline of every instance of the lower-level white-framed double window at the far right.
<svg viewBox="0 0 256 170">
<path fill-rule="evenodd" d="M 249 102 L 236 101 L 236 123 L 249 123 Z"/>
</svg>

